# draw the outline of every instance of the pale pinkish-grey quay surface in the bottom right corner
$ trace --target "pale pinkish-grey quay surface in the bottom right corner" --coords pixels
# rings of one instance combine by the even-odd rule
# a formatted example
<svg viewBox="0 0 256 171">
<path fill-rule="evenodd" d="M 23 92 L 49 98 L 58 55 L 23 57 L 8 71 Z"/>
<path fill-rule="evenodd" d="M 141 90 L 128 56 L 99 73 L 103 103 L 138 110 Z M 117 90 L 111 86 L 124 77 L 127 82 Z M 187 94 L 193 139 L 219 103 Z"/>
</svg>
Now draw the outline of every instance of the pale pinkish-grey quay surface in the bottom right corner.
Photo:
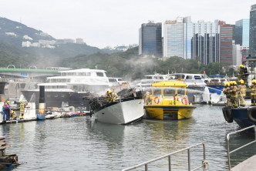
<svg viewBox="0 0 256 171">
<path fill-rule="evenodd" d="M 244 162 L 239 163 L 234 166 L 231 171 L 254 171 L 256 170 L 256 155 L 251 156 L 249 159 L 244 160 Z"/>
</svg>

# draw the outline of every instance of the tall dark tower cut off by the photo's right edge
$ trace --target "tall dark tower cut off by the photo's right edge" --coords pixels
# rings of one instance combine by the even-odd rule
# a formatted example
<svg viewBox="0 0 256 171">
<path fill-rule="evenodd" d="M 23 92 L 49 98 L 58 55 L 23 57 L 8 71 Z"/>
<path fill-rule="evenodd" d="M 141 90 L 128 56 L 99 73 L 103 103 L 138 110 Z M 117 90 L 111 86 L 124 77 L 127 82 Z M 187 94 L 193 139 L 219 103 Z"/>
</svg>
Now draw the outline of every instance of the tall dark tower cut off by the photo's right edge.
<svg viewBox="0 0 256 171">
<path fill-rule="evenodd" d="M 249 47 L 249 52 L 251 55 L 256 55 L 256 4 L 251 5 Z"/>
</svg>

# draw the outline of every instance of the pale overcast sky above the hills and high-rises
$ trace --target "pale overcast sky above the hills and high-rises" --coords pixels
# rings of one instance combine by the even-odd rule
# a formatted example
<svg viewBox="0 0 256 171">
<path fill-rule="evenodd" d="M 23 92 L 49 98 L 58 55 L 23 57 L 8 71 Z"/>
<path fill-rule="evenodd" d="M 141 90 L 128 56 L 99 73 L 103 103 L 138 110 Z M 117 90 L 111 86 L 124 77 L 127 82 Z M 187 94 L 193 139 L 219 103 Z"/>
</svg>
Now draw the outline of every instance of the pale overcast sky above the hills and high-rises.
<svg viewBox="0 0 256 171">
<path fill-rule="evenodd" d="M 139 28 L 191 16 L 235 24 L 250 18 L 255 0 L 1 0 L 0 17 L 46 32 L 56 39 L 82 38 L 87 45 L 139 44 Z"/>
</svg>

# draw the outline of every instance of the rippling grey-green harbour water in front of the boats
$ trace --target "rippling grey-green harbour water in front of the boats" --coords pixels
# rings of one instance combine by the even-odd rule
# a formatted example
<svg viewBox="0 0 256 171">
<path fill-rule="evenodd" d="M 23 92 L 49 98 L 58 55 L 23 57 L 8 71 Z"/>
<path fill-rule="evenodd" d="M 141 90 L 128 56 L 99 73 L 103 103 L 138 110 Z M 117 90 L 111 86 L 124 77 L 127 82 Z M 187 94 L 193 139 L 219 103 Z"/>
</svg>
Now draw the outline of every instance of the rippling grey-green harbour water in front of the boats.
<svg viewBox="0 0 256 171">
<path fill-rule="evenodd" d="M 225 122 L 219 106 L 196 106 L 191 119 L 179 121 L 143 119 L 122 126 L 84 116 L 1 125 L 0 136 L 11 145 L 6 153 L 19 156 L 21 165 L 12 170 L 121 170 L 199 142 L 206 145 L 210 170 L 227 170 L 226 135 L 238 126 Z M 246 133 L 231 136 L 231 149 L 253 139 Z M 255 152 L 254 145 L 241 149 L 231 155 L 231 164 Z M 194 169 L 203 159 L 203 148 L 191 149 L 190 156 Z M 167 170 L 167 161 L 149 169 Z M 173 156 L 172 163 L 174 170 L 187 170 L 187 153 Z"/>
</svg>

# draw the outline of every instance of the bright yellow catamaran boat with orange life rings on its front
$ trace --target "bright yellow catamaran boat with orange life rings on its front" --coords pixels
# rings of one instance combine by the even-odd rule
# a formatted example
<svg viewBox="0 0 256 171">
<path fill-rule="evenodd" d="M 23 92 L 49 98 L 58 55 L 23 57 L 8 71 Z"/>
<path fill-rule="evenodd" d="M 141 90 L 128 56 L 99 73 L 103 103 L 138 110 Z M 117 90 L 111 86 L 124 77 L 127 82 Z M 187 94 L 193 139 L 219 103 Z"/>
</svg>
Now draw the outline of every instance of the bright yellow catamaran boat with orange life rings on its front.
<svg viewBox="0 0 256 171">
<path fill-rule="evenodd" d="M 196 106 L 189 104 L 187 85 L 183 81 L 152 83 L 150 102 L 144 109 L 150 119 L 186 119 L 192 116 Z"/>
</svg>

